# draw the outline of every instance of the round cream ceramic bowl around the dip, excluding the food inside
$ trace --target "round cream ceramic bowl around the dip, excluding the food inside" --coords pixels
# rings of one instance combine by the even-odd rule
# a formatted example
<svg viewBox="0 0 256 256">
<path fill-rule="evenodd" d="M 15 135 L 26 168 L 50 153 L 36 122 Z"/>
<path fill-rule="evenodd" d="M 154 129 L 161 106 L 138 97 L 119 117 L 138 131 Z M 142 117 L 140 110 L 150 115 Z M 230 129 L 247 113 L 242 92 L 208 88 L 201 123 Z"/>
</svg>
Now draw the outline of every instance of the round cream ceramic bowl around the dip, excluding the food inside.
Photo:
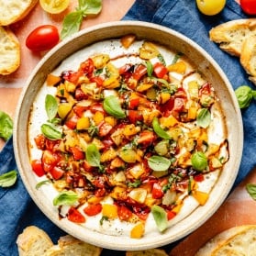
<svg viewBox="0 0 256 256">
<path fill-rule="evenodd" d="M 77 50 L 105 39 L 115 39 L 127 34 L 136 34 L 138 39 L 148 39 L 170 46 L 176 52 L 183 52 L 190 61 L 196 63 L 200 72 L 206 76 L 206 80 L 214 84 L 217 97 L 220 99 L 228 127 L 229 161 L 226 163 L 217 184 L 215 185 L 209 200 L 205 206 L 200 206 L 188 217 L 185 217 L 173 228 L 157 236 L 149 236 L 142 239 L 129 239 L 113 237 L 97 233 L 93 230 L 84 230 L 79 225 L 62 219 L 60 221 L 53 206 L 44 200 L 44 195 L 35 188 L 36 177 L 29 172 L 31 170 L 28 157 L 28 117 L 33 101 L 39 88 L 45 82 L 48 73 L 52 72 L 66 57 Z M 42 106 L 44 111 L 44 106 Z M 53 50 L 39 61 L 39 64 L 31 73 L 17 105 L 15 120 L 14 147 L 17 167 L 29 195 L 39 206 L 41 211 L 57 226 L 72 236 L 89 243 L 113 250 L 140 250 L 160 247 L 184 238 L 186 235 L 200 227 L 217 208 L 222 204 L 230 188 L 232 187 L 239 170 L 239 163 L 243 146 L 243 130 L 240 110 L 233 89 L 224 72 L 217 62 L 209 56 L 205 50 L 199 47 L 191 39 L 187 39 L 180 33 L 158 25 L 137 22 L 119 21 L 111 22 L 87 28 L 77 33 L 70 39 L 62 41 Z"/>
</svg>

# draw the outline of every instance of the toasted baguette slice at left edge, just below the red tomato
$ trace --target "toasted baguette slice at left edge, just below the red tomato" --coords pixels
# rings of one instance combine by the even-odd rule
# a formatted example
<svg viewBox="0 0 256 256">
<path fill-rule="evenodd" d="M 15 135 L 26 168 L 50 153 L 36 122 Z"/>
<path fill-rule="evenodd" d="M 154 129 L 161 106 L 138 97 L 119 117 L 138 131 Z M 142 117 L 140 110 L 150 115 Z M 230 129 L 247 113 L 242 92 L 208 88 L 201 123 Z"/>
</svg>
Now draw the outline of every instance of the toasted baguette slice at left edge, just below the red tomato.
<svg viewBox="0 0 256 256">
<path fill-rule="evenodd" d="M 20 65 L 20 45 L 15 34 L 0 26 L 0 74 L 15 72 Z"/>
</svg>

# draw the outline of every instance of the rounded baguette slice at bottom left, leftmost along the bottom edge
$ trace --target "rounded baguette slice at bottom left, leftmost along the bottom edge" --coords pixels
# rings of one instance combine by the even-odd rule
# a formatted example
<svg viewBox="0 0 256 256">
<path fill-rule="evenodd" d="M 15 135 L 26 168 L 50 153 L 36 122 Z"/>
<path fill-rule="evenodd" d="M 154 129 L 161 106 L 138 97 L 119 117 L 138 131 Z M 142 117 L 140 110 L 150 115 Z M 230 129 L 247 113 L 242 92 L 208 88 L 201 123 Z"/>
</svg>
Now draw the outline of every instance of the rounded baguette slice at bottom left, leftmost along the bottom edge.
<svg viewBox="0 0 256 256">
<path fill-rule="evenodd" d="M 52 246 L 48 234 L 35 226 L 28 226 L 17 237 L 19 256 L 42 256 Z"/>
</svg>

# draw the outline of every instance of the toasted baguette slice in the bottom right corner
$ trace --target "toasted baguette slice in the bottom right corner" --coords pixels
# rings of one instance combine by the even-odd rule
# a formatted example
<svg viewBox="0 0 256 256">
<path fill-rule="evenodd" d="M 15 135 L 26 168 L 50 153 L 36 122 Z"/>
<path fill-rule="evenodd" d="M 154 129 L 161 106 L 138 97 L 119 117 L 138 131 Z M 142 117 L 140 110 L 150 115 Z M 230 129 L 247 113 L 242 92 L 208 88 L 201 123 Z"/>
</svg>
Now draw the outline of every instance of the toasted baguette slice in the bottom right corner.
<svg viewBox="0 0 256 256">
<path fill-rule="evenodd" d="M 256 251 L 256 225 L 242 225 L 219 233 L 206 242 L 195 256 L 253 256 Z"/>
</svg>

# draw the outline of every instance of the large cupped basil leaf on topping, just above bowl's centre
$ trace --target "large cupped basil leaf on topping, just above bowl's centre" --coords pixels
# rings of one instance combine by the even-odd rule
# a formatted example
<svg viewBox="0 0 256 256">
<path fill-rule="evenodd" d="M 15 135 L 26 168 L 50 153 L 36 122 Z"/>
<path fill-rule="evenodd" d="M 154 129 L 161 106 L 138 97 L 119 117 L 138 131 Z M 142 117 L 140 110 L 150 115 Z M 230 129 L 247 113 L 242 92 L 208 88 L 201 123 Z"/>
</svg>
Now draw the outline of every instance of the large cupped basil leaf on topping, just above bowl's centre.
<svg viewBox="0 0 256 256">
<path fill-rule="evenodd" d="M 126 114 L 124 110 L 121 108 L 121 105 L 118 101 L 118 98 L 114 95 L 110 95 L 105 98 L 103 102 L 103 108 L 109 115 L 116 118 L 124 118 Z"/>
</svg>

